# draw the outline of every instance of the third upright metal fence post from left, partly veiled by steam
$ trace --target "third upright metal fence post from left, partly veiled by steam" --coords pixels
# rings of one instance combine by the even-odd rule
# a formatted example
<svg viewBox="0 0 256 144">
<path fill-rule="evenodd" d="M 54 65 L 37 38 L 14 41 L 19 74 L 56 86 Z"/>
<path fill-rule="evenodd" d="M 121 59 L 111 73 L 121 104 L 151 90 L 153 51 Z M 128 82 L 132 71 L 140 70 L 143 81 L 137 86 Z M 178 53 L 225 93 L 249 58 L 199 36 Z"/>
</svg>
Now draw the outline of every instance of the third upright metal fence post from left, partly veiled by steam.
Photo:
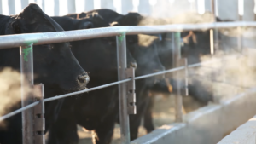
<svg viewBox="0 0 256 144">
<path fill-rule="evenodd" d="M 180 54 L 180 32 L 173 32 L 173 47 L 172 47 L 172 55 L 173 55 L 173 67 L 178 67 L 181 65 L 181 54 Z M 182 122 L 183 121 L 183 97 L 181 95 L 181 78 L 178 74 L 179 72 L 173 72 L 173 78 L 176 79 L 177 82 L 177 94 L 175 95 L 175 121 Z"/>
</svg>

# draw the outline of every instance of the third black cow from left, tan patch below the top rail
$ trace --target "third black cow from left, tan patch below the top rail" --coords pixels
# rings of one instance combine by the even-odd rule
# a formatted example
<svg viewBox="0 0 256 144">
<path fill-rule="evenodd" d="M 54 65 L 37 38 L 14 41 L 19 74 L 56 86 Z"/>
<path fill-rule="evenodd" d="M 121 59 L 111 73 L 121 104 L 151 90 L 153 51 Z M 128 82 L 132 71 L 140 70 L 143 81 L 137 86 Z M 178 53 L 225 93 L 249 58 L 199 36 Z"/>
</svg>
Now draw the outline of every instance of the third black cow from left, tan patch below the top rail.
<svg viewBox="0 0 256 144">
<path fill-rule="evenodd" d="M 118 14 L 110 9 L 97 9 L 87 13 L 68 14 L 73 18 L 86 17 L 88 14 L 100 14 L 109 23 L 117 21 L 120 26 L 138 26 L 144 17 L 138 13 L 129 13 L 126 15 Z M 136 76 L 145 75 L 151 72 L 159 72 L 164 70 L 161 65 L 158 48 L 154 38 L 148 35 L 133 35 L 127 36 L 127 42 L 135 44 L 127 44 L 127 49 L 131 50 L 131 55 L 137 60 Z M 149 89 L 154 85 L 154 78 L 137 80 L 137 114 L 130 116 L 131 140 L 137 138 L 138 127 L 141 124 L 143 114 L 147 107 L 151 104 L 151 98 L 148 97 Z"/>
</svg>

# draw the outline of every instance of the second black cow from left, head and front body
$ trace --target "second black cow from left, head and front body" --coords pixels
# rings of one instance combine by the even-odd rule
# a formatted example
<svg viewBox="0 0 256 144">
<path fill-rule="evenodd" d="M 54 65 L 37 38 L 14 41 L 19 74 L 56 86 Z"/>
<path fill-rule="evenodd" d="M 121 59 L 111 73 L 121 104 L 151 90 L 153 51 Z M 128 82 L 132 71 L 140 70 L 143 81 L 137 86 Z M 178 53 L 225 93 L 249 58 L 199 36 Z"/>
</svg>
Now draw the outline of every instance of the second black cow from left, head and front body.
<svg viewBox="0 0 256 144">
<path fill-rule="evenodd" d="M 67 17 L 53 17 L 65 30 L 78 30 L 110 26 L 108 21 L 98 14 L 73 20 Z M 72 42 L 73 54 L 82 67 L 90 72 L 88 87 L 96 87 L 117 81 L 117 49 L 115 37 L 95 38 Z M 87 49 L 89 48 L 90 49 Z M 127 50 L 127 66 L 137 66 Z M 94 130 L 96 143 L 109 143 L 113 135 L 113 126 L 118 116 L 118 86 L 91 91 L 88 94 L 69 98 L 54 127 L 49 131 L 48 143 L 78 143 L 77 124 L 87 130 Z"/>
</svg>

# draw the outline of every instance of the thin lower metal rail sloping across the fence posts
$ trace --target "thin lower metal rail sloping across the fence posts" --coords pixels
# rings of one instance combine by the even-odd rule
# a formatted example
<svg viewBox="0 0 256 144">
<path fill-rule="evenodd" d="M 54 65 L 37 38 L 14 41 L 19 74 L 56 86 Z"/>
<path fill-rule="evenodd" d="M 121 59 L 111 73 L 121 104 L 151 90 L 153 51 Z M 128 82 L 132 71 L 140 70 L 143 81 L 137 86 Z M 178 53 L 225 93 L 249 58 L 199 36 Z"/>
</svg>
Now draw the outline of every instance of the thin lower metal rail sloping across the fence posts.
<svg viewBox="0 0 256 144">
<path fill-rule="evenodd" d="M 207 65 L 207 64 L 210 64 L 212 62 L 217 62 L 217 61 L 218 60 L 209 60 L 209 61 L 205 61 L 205 62 L 193 64 L 193 65 L 189 65 L 189 67 L 203 66 L 203 65 Z M 166 70 L 166 71 L 162 71 L 162 72 L 154 72 L 154 73 L 151 73 L 151 74 L 139 76 L 139 77 L 136 77 L 134 79 L 137 80 L 137 79 L 142 79 L 142 78 L 154 77 L 154 76 L 165 74 L 165 73 L 168 73 L 168 72 L 177 72 L 177 71 L 183 70 L 184 68 L 185 68 L 185 66 L 180 66 L 180 67 L 172 68 L 170 70 Z M 79 94 L 83 94 L 83 93 L 86 93 L 86 92 L 89 92 L 89 91 L 93 91 L 93 90 L 96 90 L 96 89 L 103 89 L 103 88 L 107 88 L 107 87 L 110 87 L 110 86 L 113 86 L 113 85 L 123 84 L 123 83 L 129 82 L 129 81 L 131 81 L 131 78 L 125 79 L 125 80 L 121 80 L 121 81 L 118 81 L 118 82 L 114 82 L 114 83 L 110 83 L 110 84 L 104 84 L 104 85 L 97 86 L 97 87 L 90 88 L 90 89 L 84 89 L 84 90 L 76 91 L 76 92 L 73 92 L 73 93 L 68 93 L 68 94 L 65 94 L 65 95 L 57 95 L 57 96 L 54 96 L 54 97 L 50 97 L 50 98 L 44 99 L 44 102 L 55 101 L 55 100 L 58 100 L 58 99 L 61 99 L 61 98 L 65 98 L 65 97 L 68 97 L 68 96 L 79 95 Z M 19 112 L 22 112 L 22 111 L 25 111 L 26 109 L 34 107 L 34 106 L 38 105 L 38 103 L 39 103 L 39 101 L 33 102 L 32 104 L 27 105 L 26 107 L 22 107 L 22 108 L 20 108 L 18 110 L 15 110 L 14 112 L 10 112 L 10 113 L 0 117 L 0 122 L 3 121 L 6 118 L 10 118 L 10 117 L 14 116 L 15 114 L 18 114 Z"/>
</svg>

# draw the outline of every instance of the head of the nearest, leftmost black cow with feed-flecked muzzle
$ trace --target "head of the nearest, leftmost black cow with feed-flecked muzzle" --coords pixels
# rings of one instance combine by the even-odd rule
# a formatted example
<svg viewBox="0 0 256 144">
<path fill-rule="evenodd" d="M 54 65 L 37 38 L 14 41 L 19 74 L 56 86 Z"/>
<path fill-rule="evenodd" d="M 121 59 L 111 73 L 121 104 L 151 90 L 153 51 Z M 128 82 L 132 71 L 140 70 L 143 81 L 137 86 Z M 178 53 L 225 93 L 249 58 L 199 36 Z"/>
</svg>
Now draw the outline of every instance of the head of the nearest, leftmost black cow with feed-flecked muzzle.
<svg viewBox="0 0 256 144">
<path fill-rule="evenodd" d="M 61 32 L 63 29 L 44 14 L 37 4 L 30 4 L 9 22 L 9 33 Z M 28 42 L 31 43 L 31 42 Z M 89 77 L 73 56 L 69 43 L 33 46 L 35 83 L 65 91 L 85 89 Z"/>
</svg>

